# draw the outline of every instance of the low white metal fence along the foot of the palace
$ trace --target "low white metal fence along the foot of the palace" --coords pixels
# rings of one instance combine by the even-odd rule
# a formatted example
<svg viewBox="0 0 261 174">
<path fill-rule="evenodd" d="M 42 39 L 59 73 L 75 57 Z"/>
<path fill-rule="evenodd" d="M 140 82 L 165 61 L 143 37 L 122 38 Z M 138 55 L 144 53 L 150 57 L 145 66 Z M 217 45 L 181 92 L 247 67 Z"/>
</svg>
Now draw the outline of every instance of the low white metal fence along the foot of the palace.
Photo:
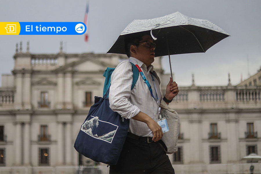
<svg viewBox="0 0 261 174">
<path fill-rule="evenodd" d="M 173 165 L 176 174 L 261 174 L 261 163 L 253 164 L 210 164 L 210 165 Z M 56 167 L 0 167 L 0 174 L 105 174 L 109 167 L 98 166 L 56 166 Z"/>
</svg>

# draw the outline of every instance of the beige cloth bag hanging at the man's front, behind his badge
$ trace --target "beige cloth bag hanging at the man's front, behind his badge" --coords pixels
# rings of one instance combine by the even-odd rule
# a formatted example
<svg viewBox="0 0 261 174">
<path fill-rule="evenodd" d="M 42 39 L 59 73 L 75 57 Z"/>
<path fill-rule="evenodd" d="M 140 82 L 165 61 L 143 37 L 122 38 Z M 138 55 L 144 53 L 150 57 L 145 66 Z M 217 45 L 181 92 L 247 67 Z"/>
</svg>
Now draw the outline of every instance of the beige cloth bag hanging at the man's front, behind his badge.
<svg viewBox="0 0 261 174">
<path fill-rule="evenodd" d="M 177 152 L 177 140 L 180 132 L 180 117 L 177 112 L 171 109 L 163 100 L 160 102 L 160 114 L 165 117 L 168 124 L 168 132 L 165 132 L 162 136 L 162 141 L 167 147 L 167 154 Z M 160 116 L 159 116 L 160 117 Z M 161 119 L 161 118 L 159 118 Z"/>
</svg>

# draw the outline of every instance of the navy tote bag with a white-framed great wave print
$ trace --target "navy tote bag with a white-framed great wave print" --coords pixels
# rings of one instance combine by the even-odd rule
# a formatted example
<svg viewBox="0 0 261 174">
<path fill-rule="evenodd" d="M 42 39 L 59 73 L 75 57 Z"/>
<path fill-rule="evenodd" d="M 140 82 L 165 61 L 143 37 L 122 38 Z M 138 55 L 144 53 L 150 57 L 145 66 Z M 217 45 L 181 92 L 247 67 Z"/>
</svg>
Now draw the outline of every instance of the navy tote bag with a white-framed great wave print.
<svg viewBox="0 0 261 174">
<path fill-rule="evenodd" d="M 112 111 L 106 96 L 107 94 L 104 97 L 95 97 L 94 105 L 90 107 L 88 116 L 81 125 L 74 148 L 95 162 L 115 165 L 122 151 L 130 120 Z"/>
</svg>

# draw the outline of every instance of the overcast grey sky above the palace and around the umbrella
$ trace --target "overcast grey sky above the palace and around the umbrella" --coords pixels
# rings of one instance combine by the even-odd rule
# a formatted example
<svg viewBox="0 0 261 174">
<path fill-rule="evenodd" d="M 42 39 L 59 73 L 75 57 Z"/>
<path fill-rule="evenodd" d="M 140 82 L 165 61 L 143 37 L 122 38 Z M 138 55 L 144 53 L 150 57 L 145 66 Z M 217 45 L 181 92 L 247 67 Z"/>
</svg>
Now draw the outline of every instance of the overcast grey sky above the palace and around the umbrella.
<svg viewBox="0 0 261 174">
<path fill-rule="evenodd" d="M 124 28 L 134 19 L 151 19 L 174 12 L 199 19 L 207 19 L 228 32 L 228 37 L 211 47 L 206 53 L 172 55 L 175 81 L 180 86 L 191 85 L 191 74 L 195 74 L 198 86 L 236 85 L 255 74 L 261 66 L 261 1 L 145 1 L 145 0 L 90 0 L 88 26 L 89 42 L 83 35 L 0 35 L 0 74 L 8 74 L 13 68 L 15 44 L 30 41 L 31 53 L 57 53 L 59 43 L 64 41 L 67 53 L 105 53 Z M 86 0 L 15 0 L 2 1 L 0 21 L 83 21 Z M 168 58 L 163 67 L 169 72 Z"/>
</svg>

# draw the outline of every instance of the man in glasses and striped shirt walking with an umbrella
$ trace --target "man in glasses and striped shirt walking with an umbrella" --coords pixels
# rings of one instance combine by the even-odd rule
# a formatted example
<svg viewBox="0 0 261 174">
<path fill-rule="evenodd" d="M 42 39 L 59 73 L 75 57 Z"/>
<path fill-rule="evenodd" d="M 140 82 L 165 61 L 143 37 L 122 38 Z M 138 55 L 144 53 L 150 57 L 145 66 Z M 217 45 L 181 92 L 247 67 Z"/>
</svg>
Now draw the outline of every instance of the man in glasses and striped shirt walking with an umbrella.
<svg viewBox="0 0 261 174">
<path fill-rule="evenodd" d="M 129 61 L 144 75 L 139 75 L 132 90 L 129 61 L 121 62 L 111 76 L 110 108 L 130 119 L 130 126 L 119 161 L 110 166 L 110 173 L 174 173 L 162 146 L 162 128 L 157 124 L 162 95 L 160 79 L 152 75 L 156 44 L 150 35 L 143 34 L 126 39 L 125 45 Z M 178 92 L 170 78 L 163 100 L 168 104 Z"/>
</svg>

